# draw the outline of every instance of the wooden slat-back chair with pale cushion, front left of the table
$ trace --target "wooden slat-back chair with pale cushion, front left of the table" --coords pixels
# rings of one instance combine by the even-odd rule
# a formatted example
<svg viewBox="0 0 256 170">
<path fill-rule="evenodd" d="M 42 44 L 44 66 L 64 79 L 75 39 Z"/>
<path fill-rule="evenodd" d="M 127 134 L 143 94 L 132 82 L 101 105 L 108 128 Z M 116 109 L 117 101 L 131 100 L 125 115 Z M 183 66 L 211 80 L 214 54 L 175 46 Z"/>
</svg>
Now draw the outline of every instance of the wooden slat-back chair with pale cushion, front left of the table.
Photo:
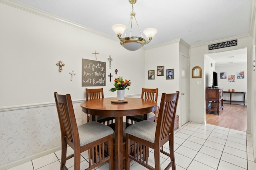
<svg viewBox="0 0 256 170">
<path fill-rule="evenodd" d="M 89 167 L 109 163 L 109 169 L 114 169 L 113 133 L 114 131 L 102 123 L 90 122 L 77 126 L 70 94 L 61 95 L 54 92 L 61 131 L 61 162 L 60 170 L 68 170 L 66 160 L 74 157 L 74 170 L 80 170 L 80 153 L 88 150 Z M 108 153 L 104 151 L 104 143 L 108 142 Z M 74 154 L 66 156 L 67 145 L 74 149 Z"/>
</svg>

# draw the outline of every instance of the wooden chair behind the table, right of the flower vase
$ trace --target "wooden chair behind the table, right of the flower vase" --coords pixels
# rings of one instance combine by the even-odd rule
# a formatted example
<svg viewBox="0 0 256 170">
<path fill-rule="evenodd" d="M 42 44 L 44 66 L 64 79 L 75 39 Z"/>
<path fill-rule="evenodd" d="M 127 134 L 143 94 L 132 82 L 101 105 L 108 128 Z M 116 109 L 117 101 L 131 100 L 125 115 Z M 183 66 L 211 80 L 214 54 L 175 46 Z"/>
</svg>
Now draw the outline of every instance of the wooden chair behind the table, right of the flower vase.
<svg viewBox="0 0 256 170">
<path fill-rule="evenodd" d="M 142 88 L 141 92 L 141 98 L 142 99 L 149 99 L 154 100 L 157 102 L 158 97 L 158 88 Z M 130 122 L 129 122 L 130 120 Z M 135 124 L 139 121 L 143 121 L 144 116 L 143 115 L 136 115 L 136 116 L 127 116 L 126 117 L 126 123 Z M 156 120 L 156 110 L 154 112 L 148 113 L 148 120 L 154 121 Z"/>
</svg>

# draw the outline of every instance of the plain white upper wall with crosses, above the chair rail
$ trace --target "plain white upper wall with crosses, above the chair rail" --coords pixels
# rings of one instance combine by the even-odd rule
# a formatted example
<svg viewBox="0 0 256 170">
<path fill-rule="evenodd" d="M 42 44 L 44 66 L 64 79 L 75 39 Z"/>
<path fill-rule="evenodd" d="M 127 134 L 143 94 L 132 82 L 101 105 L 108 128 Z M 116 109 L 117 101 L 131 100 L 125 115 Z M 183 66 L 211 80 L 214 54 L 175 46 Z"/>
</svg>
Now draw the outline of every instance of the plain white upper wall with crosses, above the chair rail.
<svg viewBox="0 0 256 170">
<path fill-rule="evenodd" d="M 84 99 L 82 59 L 106 62 L 105 96 L 115 76 L 132 79 L 130 91 L 138 94 L 144 85 L 144 50 L 127 51 L 117 41 L 55 20 L 0 4 L 0 107 L 53 102 L 53 92 L 70 93 L 72 99 Z M 108 56 L 113 58 L 109 69 Z M 66 65 L 58 71 L 56 63 Z M 116 75 L 114 70 L 118 69 Z M 74 70 L 76 76 L 70 81 Z M 112 82 L 108 75 L 112 73 Z M 11 89 L 11 90 L 6 90 Z"/>
</svg>

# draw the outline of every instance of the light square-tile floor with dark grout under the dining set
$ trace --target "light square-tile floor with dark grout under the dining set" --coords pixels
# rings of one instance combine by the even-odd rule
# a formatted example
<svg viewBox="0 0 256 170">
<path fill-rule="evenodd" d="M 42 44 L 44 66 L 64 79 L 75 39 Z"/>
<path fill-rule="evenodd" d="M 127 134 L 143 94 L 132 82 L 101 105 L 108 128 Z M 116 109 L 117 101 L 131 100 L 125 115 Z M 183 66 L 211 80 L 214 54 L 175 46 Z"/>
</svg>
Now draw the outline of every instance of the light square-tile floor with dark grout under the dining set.
<svg viewBox="0 0 256 170">
<path fill-rule="evenodd" d="M 188 122 L 174 134 L 175 160 L 177 170 L 256 170 L 253 162 L 252 135 L 243 131 L 214 125 Z M 168 145 L 165 145 L 168 150 Z M 72 149 L 68 149 L 68 154 Z M 8 170 L 58 170 L 61 151 L 26 162 Z M 162 154 L 161 169 L 170 162 Z M 74 170 L 74 160 L 68 160 L 69 170 Z M 149 164 L 154 165 L 154 150 L 150 151 Z M 88 167 L 88 153 L 81 154 L 81 167 Z M 81 169 L 82 169 L 81 168 Z M 138 163 L 130 163 L 131 170 L 146 170 Z M 96 170 L 108 170 L 108 163 Z"/>
</svg>

